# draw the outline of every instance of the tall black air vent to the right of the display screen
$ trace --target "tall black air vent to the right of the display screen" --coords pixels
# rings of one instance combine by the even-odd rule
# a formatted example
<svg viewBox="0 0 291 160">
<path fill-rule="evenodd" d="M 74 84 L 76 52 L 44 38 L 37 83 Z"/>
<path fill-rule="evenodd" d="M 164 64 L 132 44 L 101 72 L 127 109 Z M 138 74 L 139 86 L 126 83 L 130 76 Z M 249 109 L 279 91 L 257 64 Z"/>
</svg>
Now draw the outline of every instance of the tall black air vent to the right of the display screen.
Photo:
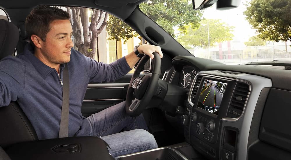
<svg viewBox="0 0 291 160">
<path fill-rule="evenodd" d="M 227 116 L 237 118 L 242 114 L 246 97 L 249 94 L 249 86 L 245 83 L 237 83 L 230 100 Z"/>
</svg>

